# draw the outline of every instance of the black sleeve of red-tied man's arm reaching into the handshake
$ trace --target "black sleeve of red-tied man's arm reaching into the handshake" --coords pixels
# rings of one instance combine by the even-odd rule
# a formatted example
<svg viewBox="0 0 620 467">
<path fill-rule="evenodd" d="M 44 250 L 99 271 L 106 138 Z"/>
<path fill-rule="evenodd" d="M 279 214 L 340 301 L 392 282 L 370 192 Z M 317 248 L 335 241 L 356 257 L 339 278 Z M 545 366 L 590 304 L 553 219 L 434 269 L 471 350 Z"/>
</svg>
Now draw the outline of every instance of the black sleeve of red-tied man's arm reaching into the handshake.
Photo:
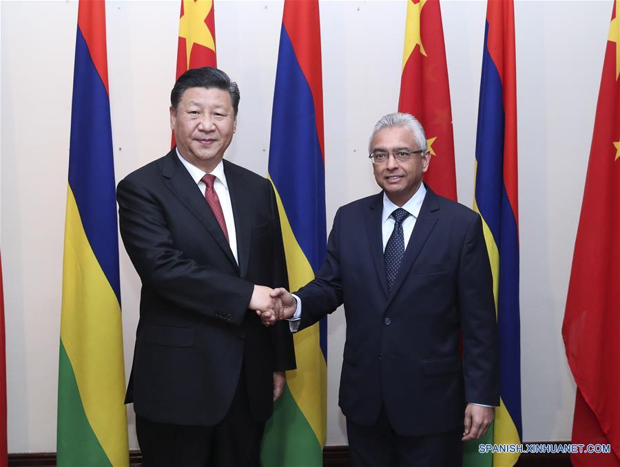
<svg viewBox="0 0 620 467">
<path fill-rule="evenodd" d="M 169 213 L 144 186 L 125 179 L 116 198 L 121 237 L 143 287 L 178 307 L 240 325 L 254 284 L 189 259 L 167 227 Z"/>
</svg>

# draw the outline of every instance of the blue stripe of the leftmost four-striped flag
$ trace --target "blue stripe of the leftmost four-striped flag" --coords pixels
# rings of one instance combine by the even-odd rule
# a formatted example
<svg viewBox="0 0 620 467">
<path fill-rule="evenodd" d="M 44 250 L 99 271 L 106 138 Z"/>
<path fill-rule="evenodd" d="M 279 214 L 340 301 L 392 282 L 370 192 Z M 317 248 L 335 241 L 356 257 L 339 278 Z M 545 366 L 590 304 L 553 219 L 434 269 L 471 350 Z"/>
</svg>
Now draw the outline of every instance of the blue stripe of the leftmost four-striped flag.
<svg viewBox="0 0 620 467">
<path fill-rule="evenodd" d="M 69 185 L 86 237 L 120 303 L 110 99 L 79 29 L 75 45 Z"/>
</svg>

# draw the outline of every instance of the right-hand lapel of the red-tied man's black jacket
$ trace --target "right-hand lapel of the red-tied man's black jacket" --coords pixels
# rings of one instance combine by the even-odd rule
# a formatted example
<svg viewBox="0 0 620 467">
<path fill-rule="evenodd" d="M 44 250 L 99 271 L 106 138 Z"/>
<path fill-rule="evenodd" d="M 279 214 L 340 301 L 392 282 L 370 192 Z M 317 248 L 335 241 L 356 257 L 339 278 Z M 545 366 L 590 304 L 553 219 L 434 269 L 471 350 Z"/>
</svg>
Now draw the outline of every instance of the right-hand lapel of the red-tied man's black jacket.
<svg viewBox="0 0 620 467">
<path fill-rule="evenodd" d="M 224 173 L 230 193 L 230 202 L 235 218 L 237 235 L 237 257 L 239 275 L 245 277 L 249 263 L 250 237 L 252 230 L 251 207 L 247 202 L 247 193 L 243 190 L 243 173 L 234 164 L 224 161 Z"/>
</svg>

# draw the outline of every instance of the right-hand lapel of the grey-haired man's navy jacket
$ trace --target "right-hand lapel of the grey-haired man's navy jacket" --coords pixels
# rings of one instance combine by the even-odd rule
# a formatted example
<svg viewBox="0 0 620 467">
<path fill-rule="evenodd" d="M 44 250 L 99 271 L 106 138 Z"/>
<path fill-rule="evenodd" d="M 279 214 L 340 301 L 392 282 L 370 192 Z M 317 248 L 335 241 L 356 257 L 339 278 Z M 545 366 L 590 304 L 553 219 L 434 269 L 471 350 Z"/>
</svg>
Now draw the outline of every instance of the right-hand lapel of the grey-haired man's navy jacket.
<svg viewBox="0 0 620 467">
<path fill-rule="evenodd" d="M 439 217 L 439 204 L 437 204 L 437 196 L 431 191 L 430 188 L 426 187 L 426 190 L 426 196 L 424 197 L 424 202 L 420 208 L 420 215 L 418 215 L 417 220 L 415 221 L 413 232 L 411 232 L 411 238 L 409 239 L 409 243 L 407 243 L 402 263 L 400 263 L 400 270 L 398 270 L 396 280 L 394 281 L 392 290 L 390 290 L 388 305 L 402 286 L 407 274 L 409 274 L 411 266 L 415 263 L 415 260 L 420 254 L 420 251 L 422 251 L 426 240 L 429 235 L 431 235 L 433 228 L 435 228 L 435 224 L 437 224 L 437 219 Z"/>
</svg>

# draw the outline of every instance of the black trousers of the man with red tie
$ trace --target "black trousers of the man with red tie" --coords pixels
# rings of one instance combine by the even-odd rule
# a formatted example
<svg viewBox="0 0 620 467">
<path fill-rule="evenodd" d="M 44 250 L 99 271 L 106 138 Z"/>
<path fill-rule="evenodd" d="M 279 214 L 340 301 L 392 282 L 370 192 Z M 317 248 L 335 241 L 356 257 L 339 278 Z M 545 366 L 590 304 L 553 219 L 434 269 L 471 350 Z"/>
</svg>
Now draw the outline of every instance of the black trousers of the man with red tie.
<svg viewBox="0 0 620 467">
<path fill-rule="evenodd" d="M 244 369 L 224 420 L 216 426 L 156 423 L 136 414 L 144 467 L 259 467 L 265 422 L 251 416 Z"/>
</svg>

